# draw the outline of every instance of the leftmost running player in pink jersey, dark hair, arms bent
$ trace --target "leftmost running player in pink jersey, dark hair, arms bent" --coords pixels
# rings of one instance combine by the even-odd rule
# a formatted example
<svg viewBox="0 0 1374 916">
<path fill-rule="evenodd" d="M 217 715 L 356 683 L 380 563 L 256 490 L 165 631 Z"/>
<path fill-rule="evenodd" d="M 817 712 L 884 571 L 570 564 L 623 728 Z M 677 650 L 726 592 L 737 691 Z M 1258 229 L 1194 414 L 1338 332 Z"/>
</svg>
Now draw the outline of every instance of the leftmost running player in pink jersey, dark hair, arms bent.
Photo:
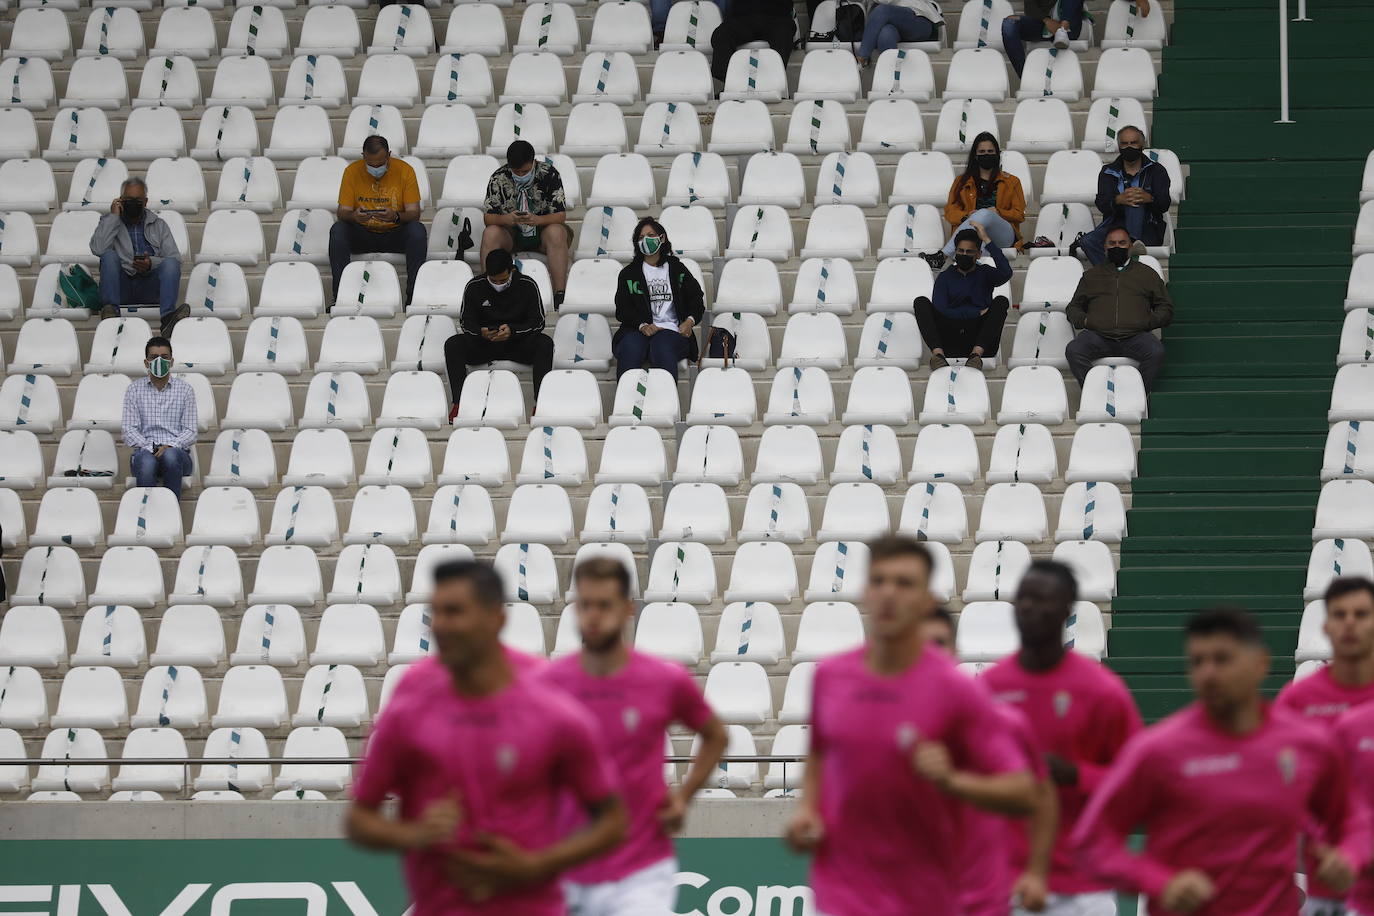
<svg viewBox="0 0 1374 916">
<path fill-rule="evenodd" d="M 405 853 L 414 916 L 562 916 L 558 876 L 624 836 L 614 770 L 587 710 L 515 670 L 496 571 L 456 560 L 434 581 L 437 656 L 407 673 L 378 717 L 349 838 Z M 381 810 L 389 795 L 394 818 Z M 573 834 L 558 827 L 567 797 L 587 813 Z"/>
</svg>

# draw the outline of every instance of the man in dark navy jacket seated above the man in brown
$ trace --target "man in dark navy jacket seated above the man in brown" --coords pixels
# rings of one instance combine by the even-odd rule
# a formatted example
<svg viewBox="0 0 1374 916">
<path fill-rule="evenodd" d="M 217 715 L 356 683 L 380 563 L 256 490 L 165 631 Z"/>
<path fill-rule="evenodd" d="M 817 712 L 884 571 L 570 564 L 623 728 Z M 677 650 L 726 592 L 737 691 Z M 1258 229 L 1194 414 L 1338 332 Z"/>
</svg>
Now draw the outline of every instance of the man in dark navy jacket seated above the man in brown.
<svg viewBox="0 0 1374 916">
<path fill-rule="evenodd" d="M 1145 152 L 1145 132 L 1117 130 L 1121 154 L 1098 173 L 1096 206 L 1102 222 L 1070 246 L 1081 249 L 1092 264 L 1106 260 L 1107 232 L 1121 227 L 1142 244 L 1164 244 L 1169 222 L 1169 172 Z"/>
</svg>

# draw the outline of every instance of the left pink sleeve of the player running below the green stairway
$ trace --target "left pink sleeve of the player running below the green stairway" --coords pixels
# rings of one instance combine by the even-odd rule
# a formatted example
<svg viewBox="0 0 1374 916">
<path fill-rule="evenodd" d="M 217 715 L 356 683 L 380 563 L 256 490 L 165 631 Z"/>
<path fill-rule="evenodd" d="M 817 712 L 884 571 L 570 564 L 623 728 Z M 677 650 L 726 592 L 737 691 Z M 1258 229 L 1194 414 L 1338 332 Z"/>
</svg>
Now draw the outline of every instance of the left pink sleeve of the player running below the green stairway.
<svg viewBox="0 0 1374 916">
<path fill-rule="evenodd" d="M 1151 773 L 1160 766 L 1149 761 L 1139 737 L 1121 751 L 1107 770 L 1088 808 L 1079 817 L 1070 849 L 1084 872 L 1127 891 L 1158 897 L 1173 872 L 1149 856 L 1127 849 L 1127 838 L 1157 803 Z"/>
</svg>

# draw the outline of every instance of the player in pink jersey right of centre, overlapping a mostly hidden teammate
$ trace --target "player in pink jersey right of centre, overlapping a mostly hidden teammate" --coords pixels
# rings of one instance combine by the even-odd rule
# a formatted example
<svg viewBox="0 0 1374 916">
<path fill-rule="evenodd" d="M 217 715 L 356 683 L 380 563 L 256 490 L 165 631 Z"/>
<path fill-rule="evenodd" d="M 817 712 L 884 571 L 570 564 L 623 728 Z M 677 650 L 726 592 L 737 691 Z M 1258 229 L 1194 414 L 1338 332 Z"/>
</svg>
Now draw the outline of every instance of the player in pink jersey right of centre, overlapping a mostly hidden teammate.
<svg viewBox="0 0 1374 916">
<path fill-rule="evenodd" d="M 816 669 L 787 840 L 815 851 L 811 887 L 824 916 L 958 913 L 963 806 L 1035 808 L 1035 777 L 991 694 L 926 643 L 930 570 L 918 541 L 874 541 L 868 643 Z"/>
</svg>

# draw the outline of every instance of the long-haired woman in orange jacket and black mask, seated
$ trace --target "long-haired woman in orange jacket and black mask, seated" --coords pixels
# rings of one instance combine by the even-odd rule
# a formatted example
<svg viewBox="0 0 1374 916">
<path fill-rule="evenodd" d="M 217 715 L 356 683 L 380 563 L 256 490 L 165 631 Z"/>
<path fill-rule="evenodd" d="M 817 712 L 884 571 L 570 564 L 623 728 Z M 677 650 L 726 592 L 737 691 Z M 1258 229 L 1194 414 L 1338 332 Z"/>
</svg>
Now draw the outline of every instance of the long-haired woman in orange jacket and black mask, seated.
<svg viewBox="0 0 1374 916">
<path fill-rule="evenodd" d="M 952 232 L 943 251 L 922 254 L 938 271 L 954 254 L 954 239 L 959 229 L 977 222 L 988 231 L 999 249 L 1021 247 L 1021 222 L 1026 218 L 1026 195 L 1021 180 L 1002 170 L 1002 148 L 998 139 L 984 130 L 969 147 L 969 162 L 963 174 L 949 187 L 945 220 Z"/>
</svg>

